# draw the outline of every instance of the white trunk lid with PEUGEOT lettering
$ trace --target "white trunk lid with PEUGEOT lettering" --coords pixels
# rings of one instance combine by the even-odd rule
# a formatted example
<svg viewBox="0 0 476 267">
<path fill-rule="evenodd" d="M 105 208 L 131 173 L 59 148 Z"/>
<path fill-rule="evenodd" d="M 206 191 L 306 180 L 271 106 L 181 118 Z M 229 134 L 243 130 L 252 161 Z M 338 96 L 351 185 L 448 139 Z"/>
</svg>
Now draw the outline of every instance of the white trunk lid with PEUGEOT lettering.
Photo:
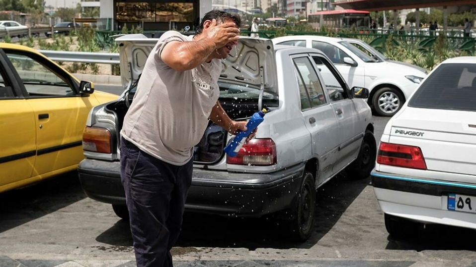
<svg viewBox="0 0 476 267">
<path fill-rule="evenodd" d="M 428 170 L 476 173 L 474 111 L 406 107 L 393 120 L 390 143 L 420 147 Z"/>
</svg>

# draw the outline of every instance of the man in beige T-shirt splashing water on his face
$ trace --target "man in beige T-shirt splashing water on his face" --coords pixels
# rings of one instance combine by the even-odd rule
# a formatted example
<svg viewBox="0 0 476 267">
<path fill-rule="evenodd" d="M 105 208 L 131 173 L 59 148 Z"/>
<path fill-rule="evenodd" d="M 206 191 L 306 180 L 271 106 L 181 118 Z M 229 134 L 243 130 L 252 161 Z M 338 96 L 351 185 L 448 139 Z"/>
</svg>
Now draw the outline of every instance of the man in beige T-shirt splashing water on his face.
<svg viewBox="0 0 476 267">
<path fill-rule="evenodd" d="M 209 119 L 231 134 L 246 130 L 218 102 L 221 59 L 238 44 L 240 24 L 238 15 L 212 10 L 194 36 L 165 32 L 146 60 L 121 130 L 121 179 L 138 267 L 173 266 L 193 147 Z"/>
</svg>

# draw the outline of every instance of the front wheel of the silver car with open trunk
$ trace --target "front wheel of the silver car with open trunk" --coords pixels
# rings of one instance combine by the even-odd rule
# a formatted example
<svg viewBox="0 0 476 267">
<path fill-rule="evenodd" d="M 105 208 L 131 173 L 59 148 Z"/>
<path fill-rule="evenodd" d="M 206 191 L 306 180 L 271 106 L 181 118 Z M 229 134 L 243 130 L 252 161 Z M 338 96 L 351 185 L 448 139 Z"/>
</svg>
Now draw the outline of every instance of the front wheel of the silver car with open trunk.
<svg viewBox="0 0 476 267">
<path fill-rule="evenodd" d="M 355 179 L 364 179 L 369 177 L 370 172 L 375 166 L 375 159 L 377 158 L 377 143 L 375 142 L 374 134 L 367 130 L 365 131 L 364 139 L 360 145 L 359 155 L 346 168 L 349 176 Z"/>
</svg>

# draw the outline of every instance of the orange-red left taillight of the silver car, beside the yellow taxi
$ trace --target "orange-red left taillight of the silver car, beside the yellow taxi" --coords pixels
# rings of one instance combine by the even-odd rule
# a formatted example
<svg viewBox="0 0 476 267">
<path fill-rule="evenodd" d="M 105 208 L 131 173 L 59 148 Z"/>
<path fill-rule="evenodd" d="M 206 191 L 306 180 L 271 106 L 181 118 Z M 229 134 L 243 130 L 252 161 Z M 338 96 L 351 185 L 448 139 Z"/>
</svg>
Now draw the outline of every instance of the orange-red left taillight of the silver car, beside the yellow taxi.
<svg viewBox="0 0 476 267">
<path fill-rule="evenodd" d="M 111 154 L 111 133 L 104 128 L 86 126 L 82 132 L 82 149 Z"/>
</svg>

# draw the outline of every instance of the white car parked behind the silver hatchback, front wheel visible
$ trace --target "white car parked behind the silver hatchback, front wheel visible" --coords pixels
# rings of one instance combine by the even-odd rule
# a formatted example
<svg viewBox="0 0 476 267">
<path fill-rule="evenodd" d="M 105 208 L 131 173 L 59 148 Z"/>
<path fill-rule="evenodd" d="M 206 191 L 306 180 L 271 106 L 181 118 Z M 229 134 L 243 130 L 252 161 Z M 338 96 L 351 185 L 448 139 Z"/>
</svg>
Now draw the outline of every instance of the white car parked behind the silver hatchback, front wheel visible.
<svg viewBox="0 0 476 267">
<path fill-rule="evenodd" d="M 375 60 L 352 44 L 333 37 L 284 36 L 272 41 L 275 45 L 316 48 L 325 53 L 350 87 L 369 89 L 368 104 L 381 116 L 397 113 L 426 76 L 413 67 Z"/>
</svg>

